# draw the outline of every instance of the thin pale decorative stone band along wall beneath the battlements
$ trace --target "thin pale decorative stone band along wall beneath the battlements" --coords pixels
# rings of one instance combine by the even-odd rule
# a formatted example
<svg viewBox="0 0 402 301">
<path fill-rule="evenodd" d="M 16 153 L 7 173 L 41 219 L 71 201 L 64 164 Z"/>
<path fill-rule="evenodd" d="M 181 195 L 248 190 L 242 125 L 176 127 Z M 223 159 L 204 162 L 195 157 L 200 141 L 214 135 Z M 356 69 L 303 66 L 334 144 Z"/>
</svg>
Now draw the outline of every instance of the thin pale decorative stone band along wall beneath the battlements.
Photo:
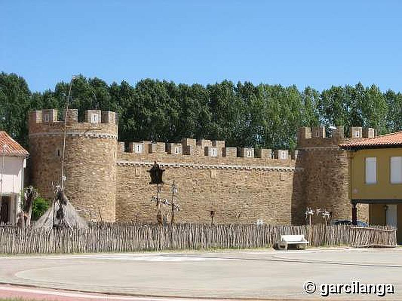
<svg viewBox="0 0 402 301">
<path fill-rule="evenodd" d="M 224 169 L 224 170 L 259 170 L 259 171 L 299 171 L 304 168 L 299 167 L 280 167 L 280 166 L 245 166 L 245 165 L 209 165 L 209 164 L 191 164 L 191 163 L 158 163 L 160 167 L 165 168 L 193 168 L 193 169 Z M 117 161 L 118 166 L 141 166 L 152 167 L 154 162 L 150 161 Z"/>
</svg>

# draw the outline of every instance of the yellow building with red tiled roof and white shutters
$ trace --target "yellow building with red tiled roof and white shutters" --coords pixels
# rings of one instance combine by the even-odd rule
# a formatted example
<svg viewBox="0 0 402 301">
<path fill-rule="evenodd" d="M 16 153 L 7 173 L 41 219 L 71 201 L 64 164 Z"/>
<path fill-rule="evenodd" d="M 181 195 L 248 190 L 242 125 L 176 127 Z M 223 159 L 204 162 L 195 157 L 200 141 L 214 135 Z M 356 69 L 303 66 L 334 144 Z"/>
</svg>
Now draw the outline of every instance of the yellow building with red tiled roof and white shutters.
<svg viewBox="0 0 402 301">
<path fill-rule="evenodd" d="M 370 225 L 398 228 L 402 243 L 402 132 L 340 145 L 348 150 L 352 221 L 356 204 L 369 204 Z"/>
</svg>

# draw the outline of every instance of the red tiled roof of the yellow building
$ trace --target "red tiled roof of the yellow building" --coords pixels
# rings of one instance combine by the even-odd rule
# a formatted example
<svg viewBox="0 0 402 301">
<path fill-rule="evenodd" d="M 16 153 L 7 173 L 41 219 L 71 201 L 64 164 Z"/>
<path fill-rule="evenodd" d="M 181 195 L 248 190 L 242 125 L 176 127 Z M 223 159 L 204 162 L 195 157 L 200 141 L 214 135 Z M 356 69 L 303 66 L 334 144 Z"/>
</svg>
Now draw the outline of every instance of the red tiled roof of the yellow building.
<svg viewBox="0 0 402 301">
<path fill-rule="evenodd" d="M 402 131 L 339 144 L 341 148 L 381 148 L 402 146 Z"/>
</svg>

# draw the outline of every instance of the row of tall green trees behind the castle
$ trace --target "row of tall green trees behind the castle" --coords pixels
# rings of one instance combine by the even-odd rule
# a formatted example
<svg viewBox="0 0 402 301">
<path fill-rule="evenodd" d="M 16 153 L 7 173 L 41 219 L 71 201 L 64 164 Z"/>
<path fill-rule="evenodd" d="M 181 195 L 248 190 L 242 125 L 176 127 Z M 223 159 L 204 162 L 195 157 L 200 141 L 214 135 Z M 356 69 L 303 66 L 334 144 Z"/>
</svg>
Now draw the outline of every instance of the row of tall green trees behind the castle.
<svg viewBox="0 0 402 301">
<path fill-rule="evenodd" d="M 0 129 L 28 145 L 28 112 L 56 108 L 63 113 L 68 82 L 54 90 L 31 92 L 25 79 L 0 74 Z M 402 94 L 377 86 L 332 86 L 318 91 L 224 80 L 175 84 L 143 79 L 107 84 L 80 75 L 74 80 L 70 108 L 119 113 L 119 140 L 176 142 L 181 138 L 226 140 L 228 146 L 294 148 L 300 126 L 374 127 L 378 134 L 402 129 Z M 61 117 L 61 116 L 60 116 Z"/>
</svg>

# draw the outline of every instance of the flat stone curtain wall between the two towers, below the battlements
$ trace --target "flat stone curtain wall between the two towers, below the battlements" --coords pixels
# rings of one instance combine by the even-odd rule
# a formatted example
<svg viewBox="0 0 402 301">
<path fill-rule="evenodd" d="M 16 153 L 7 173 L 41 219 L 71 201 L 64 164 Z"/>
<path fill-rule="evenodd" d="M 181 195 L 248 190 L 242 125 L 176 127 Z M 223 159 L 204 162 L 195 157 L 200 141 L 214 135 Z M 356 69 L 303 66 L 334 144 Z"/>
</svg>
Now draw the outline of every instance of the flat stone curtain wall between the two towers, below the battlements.
<svg viewBox="0 0 402 301">
<path fill-rule="evenodd" d="M 177 222 L 209 223 L 213 210 L 215 223 L 290 224 L 293 202 L 303 200 L 303 170 L 294 160 L 120 152 L 116 221 L 155 222 L 147 172 L 154 161 L 165 169 L 161 197 L 170 200 L 170 185 L 178 186 Z M 170 208 L 162 208 L 170 222 Z"/>
</svg>

